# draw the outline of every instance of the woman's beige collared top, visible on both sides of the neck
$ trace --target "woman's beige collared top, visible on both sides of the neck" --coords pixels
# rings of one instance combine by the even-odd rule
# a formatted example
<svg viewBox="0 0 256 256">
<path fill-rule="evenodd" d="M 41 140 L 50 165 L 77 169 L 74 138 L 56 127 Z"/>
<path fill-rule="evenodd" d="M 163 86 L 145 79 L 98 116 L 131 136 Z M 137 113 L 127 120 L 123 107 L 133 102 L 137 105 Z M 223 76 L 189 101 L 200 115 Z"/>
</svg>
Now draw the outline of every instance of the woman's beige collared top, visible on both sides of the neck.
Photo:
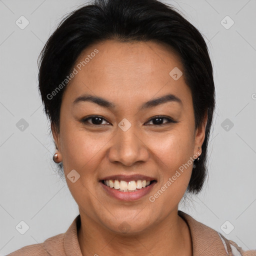
<svg viewBox="0 0 256 256">
<path fill-rule="evenodd" d="M 188 224 L 193 256 L 256 256 L 256 250 L 243 251 L 235 242 L 227 240 L 190 215 L 180 210 L 178 215 Z M 24 246 L 6 256 L 82 256 L 77 238 L 80 223 L 80 215 L 77 215 L 65 233 L 52 236 L 42 243 Z"/>
</svg>

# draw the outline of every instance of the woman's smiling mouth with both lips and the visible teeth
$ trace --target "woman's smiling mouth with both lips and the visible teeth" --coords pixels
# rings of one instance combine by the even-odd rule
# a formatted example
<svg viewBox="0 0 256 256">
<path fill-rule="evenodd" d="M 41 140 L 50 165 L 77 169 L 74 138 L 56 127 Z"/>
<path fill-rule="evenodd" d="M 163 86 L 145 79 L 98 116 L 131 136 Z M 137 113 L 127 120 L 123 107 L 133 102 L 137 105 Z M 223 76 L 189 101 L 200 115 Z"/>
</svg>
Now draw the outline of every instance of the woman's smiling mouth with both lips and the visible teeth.
<svg viewBox="0 0 256 256">
<path fill-rule="evenodd" d="M 114 175 L 99 180 L 104 191 L 119 200 L 138 200 L 151 191 L 157 182 L 155 178 L 144 175 Z"/>
</svg>

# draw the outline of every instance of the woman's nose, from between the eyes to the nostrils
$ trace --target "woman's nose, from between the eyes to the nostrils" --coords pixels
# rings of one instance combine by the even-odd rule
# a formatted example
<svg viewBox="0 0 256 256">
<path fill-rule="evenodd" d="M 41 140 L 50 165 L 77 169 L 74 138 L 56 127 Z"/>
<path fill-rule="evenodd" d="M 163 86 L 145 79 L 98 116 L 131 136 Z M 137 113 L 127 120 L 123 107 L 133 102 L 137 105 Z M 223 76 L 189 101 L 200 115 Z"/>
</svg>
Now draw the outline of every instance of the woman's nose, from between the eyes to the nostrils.
<svg viewBox="0 0 256 256">
<path fill-rule="evenodd" d="M 117 127 L 116 134 L 112 138 L 112 145 L 108 150 L 109 161 L 131 166 L 137 162 L 145 162 L 148 158 L 148 146 L 138 128 L 131 125 L 128 130 L 123 131 Z"/>
</svg>

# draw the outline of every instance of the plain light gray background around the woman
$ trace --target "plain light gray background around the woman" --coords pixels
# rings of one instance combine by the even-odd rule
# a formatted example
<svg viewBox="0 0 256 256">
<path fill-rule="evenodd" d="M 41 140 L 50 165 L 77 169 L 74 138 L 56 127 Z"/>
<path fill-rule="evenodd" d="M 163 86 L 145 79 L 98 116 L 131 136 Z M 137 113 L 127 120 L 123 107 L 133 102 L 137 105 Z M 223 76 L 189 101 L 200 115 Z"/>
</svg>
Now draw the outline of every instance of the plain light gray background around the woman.
<svg viewBox="0 0 256 256">
<path fill-rule="evenodd" d="M 65 182 L 53 171 L 36 60 L 62 16 L 84 2 L 0 0 L 0 255 L 65 232 L 78 214 Z M 256 249 L 256 1 L 165 2 L 203 34 L 216 86 L 208 180 L 180 209 L 242 248 Z M 24 29 L 15 24 L 21 15 L 29 21 Z M 231 24 L 226 15 L 234 21 L 229 29 L 222 25 Z M 23 131 L 16 126 L 21 118 L 28 123 Z M 15 229 L 21 220 L 29 226 L 23 235 Z M 229 234 L 229 222 L 225 232 L 220 228 L 226 220 L 234 226 Z"/>
</svg>

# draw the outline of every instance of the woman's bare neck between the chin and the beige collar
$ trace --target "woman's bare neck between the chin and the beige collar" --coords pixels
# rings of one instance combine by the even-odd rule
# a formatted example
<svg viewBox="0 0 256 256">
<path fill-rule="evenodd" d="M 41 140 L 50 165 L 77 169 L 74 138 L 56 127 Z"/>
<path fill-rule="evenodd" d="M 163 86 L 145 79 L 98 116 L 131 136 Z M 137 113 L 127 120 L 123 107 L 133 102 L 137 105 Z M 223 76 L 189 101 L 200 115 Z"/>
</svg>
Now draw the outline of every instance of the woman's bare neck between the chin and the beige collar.
<svg viewBox="0 0 256 256">
<path fill-rule="evenodd" d="M 78 241 L 83 256 L 192 256 L 189 228 L 177 210 L 154 226 L 132 235 L 112 232 L 82 212 L 80 217 Z"/>
</svg>

